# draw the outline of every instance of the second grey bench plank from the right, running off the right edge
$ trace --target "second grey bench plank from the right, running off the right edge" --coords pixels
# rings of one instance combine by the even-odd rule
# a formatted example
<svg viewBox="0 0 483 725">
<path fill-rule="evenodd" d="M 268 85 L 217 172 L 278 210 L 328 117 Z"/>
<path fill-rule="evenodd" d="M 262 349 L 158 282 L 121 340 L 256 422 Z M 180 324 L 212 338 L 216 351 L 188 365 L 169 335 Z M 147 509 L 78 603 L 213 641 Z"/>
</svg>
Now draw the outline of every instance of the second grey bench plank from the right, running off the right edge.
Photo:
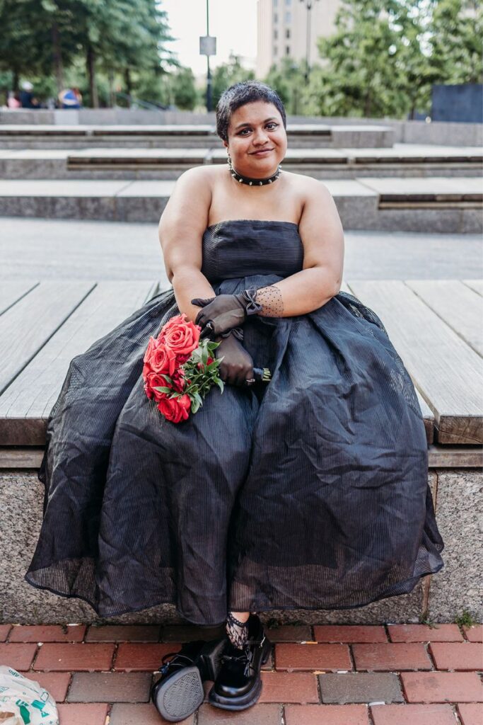
<svg viewBox="0 0 483 725">
<path fill-rule="evenodd" d="M 483 297 L 457 279 L 408 280 L 406 285 L 475 352 L 483 355 Z"/>
</svg>

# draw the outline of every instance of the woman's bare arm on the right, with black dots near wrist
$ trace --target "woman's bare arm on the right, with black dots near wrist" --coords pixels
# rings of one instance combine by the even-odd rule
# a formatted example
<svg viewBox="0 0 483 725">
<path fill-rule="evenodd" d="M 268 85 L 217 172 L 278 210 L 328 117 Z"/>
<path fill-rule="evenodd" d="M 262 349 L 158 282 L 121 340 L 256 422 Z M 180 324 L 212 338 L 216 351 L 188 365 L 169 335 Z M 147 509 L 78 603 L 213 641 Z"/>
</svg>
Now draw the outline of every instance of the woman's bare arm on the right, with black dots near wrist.
<svg viewBox="0 0 483 725">
<path fill-rule="evenodd" d="M 304 315 L 325 305 L 340 290 L 343 227 L 334 199 L 320 181 L 308 180 L 299 232 L 303 241 L 303 270 L 257 291 L 256 301 L 263 306 L 260 315 Z"/>
</svg>

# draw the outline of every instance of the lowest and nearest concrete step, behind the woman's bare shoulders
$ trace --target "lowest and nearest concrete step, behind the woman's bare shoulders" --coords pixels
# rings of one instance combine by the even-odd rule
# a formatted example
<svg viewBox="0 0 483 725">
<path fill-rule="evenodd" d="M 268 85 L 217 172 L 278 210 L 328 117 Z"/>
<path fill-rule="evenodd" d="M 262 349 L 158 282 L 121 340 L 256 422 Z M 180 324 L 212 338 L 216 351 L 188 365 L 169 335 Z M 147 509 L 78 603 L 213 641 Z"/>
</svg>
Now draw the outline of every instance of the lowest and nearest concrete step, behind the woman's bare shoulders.
<svg viewBox="0 0 483 725">
<path fill-rule="evenodd" d="M 478 178 L 326 179 L 345 229 L 479 233 Z M 173 181 L 0 181 L 0 215 L 157 222 Z"/>
</svg>

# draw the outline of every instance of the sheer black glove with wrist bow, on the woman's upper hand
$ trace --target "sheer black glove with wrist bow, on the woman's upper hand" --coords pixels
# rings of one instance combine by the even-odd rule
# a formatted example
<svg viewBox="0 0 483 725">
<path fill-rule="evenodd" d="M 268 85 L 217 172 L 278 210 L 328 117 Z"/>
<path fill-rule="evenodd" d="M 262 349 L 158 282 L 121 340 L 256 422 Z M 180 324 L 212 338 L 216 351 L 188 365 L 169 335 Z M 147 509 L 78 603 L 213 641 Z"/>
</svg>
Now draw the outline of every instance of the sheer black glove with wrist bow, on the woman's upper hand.
<svg viewBox="0 0 483 725">
<path fill-rule="evenodd" d="M 196 325 L 201 325 L 200 337 L 214 337 L 243 325 L 247 315 L 261 312 L 261 305 L 256 302 L 256 289 L 244 289 L 238 294 L 219 294 L 209 299 L 191 300 L 192 305 L 203 307 L 196 315 Z M 209 324 L 211 323 L 211 324 Z"/>
</svg>

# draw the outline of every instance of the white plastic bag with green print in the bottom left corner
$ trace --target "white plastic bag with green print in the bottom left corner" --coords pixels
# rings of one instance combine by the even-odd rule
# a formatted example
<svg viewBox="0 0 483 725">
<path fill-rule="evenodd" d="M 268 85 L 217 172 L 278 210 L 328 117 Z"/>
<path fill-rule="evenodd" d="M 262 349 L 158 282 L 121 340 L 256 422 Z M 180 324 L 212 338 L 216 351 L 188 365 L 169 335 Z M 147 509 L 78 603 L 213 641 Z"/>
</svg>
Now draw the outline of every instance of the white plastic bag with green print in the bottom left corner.
<svg viewBox="0 0 483 725">
<path fill-rule="evenodd" d="M 0 725 L 41 724 L 59 725 L 54 698 L 38 682 L 0 665 Z"/>
</svg>

